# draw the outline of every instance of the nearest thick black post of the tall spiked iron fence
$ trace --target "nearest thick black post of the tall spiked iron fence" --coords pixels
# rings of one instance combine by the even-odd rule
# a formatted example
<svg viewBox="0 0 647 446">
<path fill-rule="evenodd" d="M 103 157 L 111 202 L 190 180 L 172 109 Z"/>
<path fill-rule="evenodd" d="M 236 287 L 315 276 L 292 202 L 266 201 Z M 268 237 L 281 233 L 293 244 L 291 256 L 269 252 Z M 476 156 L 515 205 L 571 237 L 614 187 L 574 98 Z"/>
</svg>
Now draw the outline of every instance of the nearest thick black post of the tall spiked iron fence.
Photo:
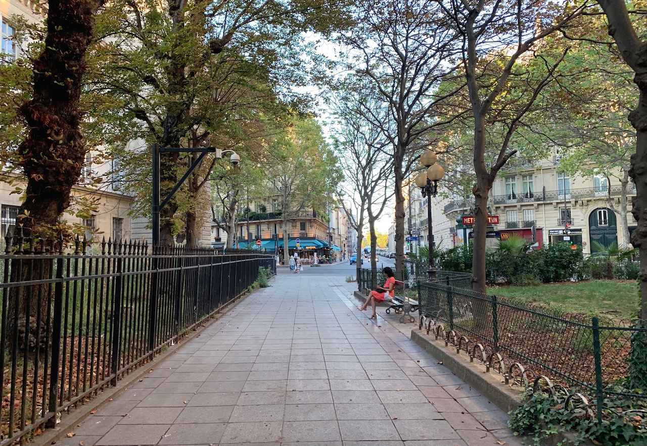
<svg viewBox="0 0 647 446">
<path fill-rule="evenodd" d="M 62 247 L 61 247 L 62 248 Z M 54 316 L 52 317 L 52 365 L 49 385 L 49 412 L 54 416 L 46 427 L 56 427 L 56 402 L 60 386 L 59 366 L 61 361 L 61 322 L 63 321 L 63 253 L 56 254 L 56 284 L 54 285 Z"/>
</svg>

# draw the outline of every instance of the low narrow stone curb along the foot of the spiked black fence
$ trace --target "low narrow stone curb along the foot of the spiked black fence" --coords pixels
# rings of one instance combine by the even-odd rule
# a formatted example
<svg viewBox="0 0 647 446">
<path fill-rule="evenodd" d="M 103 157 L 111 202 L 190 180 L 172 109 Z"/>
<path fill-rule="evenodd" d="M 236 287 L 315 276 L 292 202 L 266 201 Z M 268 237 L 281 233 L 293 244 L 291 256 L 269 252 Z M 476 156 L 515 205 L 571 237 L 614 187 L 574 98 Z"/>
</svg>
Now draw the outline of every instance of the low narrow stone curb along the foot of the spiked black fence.
<svg viewBox="0 0 647 446">
<path fill-rule="evenodd" d="M 273 276 L 270 278 L 270 280 L 275 278 L 276 276 Z M 254 290 L 254 292 L 256 291 L 258 290 Z M 107 404 L 111 399 L 115 398 L 122 392 L 125 392 L 126 390 L 128 390 L 128 388 L 131 387 L 131 385 L 133 385 L 134 383 L 137 383 L 140 379 L 143 379 L 143 377 L 148 374 L 148 370 L 159 366 L 160 363 L 168 359 L 168 357 L 170 357 L 172 354 L 181 350 L 182 346 L 186 345 L 189 341 L 192 341 L 193 338 L 201 335 L 204 332 L 204 330 L 206 330 L 206 328 L 211 326 L 211 324 L 213 324 L 215 321 L 220 319 L 223 315 L 225 315 L 230 310 L 232 310 L 232 308 L 236 308 L 236 306 L 239 303 L 247 299 L 247 297 L 252 294 L 253 293 L 247 293 L 245 295 L 238 297 L 237 299 L 234 299 L 234 301 L 232 301 L 231 303 L 221 308 L 221 311 L 216 315 L 214 315 L 212 319 L 205 321 L 203 326 L 197 328 L 186 338 L 182 339 L 180 343 L 168 346 L 168 350 L 153 357 L 153 359 L 151 359 L 151 361 L 149 361 L 148 363 L 144 363 L 139 366 L 136 366 L 137 370 L 127 375 L 123 379 L 120 379 L 119 381 L 117 381 L 116 386 L 106 387 L 103 389 L 98 388 L 96 390 L 97 395 L 94 398 L 92 398 L 90 401 L 87 401 L 87 403 L 80 404 L 78 407 L 72 407 L 69 409 L 69 412 L 67 413 L 65 411 L 61 412 L 61 422 L 56 427 L 52 429 L 45 429 L 43 433 L 37 436 L 34 436 L 34 438 L 31 441 L 29 441 L 28 444 L 34 445 L 34 446 L 55 445 L 56 443 L 58 443 L 59 440 L 63 440 L 63 438 L 65 438 L 65 436 L 67 435 L 67 432 L 73 432 L 74 429 L 76 429 L 77 425 L 83 423 L 85 419 L 89 418 L 92 415 L 90 413 L 92 410 L 100 409 L 105 404 Z"/>
</svg>

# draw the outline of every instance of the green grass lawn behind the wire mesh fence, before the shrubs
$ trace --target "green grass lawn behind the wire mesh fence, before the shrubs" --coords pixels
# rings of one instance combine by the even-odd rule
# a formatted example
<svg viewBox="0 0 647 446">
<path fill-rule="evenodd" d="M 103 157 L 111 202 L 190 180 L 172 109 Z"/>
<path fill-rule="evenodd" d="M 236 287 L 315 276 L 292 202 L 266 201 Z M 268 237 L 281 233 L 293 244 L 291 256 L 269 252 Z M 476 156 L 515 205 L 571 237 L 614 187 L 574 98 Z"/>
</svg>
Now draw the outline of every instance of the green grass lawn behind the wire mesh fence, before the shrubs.
<svg viewBox="0 0 647 446">
<path fill-rule="evenodd" d="M 635 317 L 640 306 L 635 281 L 584 281 L 542 284 L 537 286 L 490 286 L 488 294 L 517 297 L 548 306 L 559 306 L 567 312 Z"/>
</svg>

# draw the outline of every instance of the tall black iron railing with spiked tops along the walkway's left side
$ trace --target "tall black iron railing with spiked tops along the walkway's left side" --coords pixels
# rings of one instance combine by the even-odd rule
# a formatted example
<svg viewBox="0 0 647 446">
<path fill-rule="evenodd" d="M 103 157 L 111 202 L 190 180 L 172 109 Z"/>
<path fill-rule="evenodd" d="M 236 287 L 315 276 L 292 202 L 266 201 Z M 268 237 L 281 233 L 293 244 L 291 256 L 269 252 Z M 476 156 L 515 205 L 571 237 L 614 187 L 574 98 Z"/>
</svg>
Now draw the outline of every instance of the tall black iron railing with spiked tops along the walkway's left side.
<svg viewBox="0 0 647 446">
<path fill-rule="evenodd" d="M 13 243 L 12 243 L 13 241 Z M 271 255 L 212 248 L 6 238 L 1 293 L 0 445 L 148 361 L 248 290 Z M 12 253 L 11 246 L 16 246 Z"/>
</svg>

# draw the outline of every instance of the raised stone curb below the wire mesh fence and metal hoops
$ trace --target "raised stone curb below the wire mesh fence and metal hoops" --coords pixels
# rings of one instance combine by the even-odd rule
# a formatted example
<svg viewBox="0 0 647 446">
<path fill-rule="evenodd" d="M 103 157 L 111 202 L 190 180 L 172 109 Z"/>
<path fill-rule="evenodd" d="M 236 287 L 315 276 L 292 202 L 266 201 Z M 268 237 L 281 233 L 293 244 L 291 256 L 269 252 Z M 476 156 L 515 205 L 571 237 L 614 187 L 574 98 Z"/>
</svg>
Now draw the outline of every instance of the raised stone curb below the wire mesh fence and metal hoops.
<svg viewBox="0 0 647 446">
<path fill-rule="evenodd" d="M 452 370 L 455 376 L 474 387 L 503 412 L 508 413 L 523 405 L 523 390 L 502 385 L 501 376 L 485 372 L 482 366 L 470 363 L 469 357 L 462 354 L 463 352 L 456 354 L 455 348 L 444 346 L 444 341 L 436 341 L 417 328 L 411 330 L 411 341 L 438 359 L 439 363 Z"/>
</svg>

